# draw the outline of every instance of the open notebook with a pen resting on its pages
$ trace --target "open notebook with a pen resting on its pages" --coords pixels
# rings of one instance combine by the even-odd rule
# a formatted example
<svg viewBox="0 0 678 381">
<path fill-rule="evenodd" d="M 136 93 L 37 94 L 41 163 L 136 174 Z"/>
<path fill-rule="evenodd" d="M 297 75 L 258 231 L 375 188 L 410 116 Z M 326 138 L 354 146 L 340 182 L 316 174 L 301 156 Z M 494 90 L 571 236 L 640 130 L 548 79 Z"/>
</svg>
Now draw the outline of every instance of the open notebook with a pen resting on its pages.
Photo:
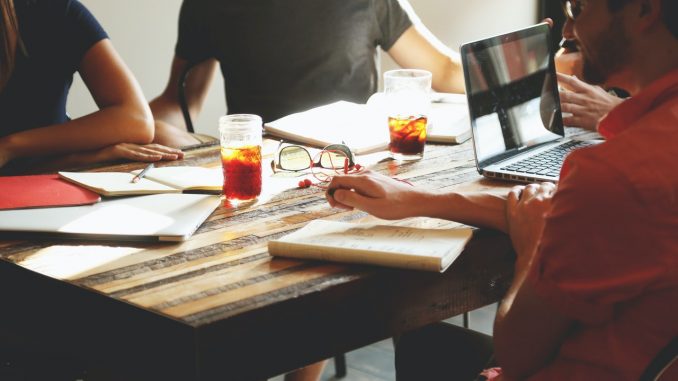
<svg viewBox="0 0 678 381">
<path fill-rule="evenodd" d="M 102 196 L 132 196 L 184 191 L 221 191 L 224 177 L 221 167 L 151 168 L 136 183 L 132 178 L 141 170 L 125 172 L 59 172 L 62 179 L 78 184 Z"/>
</svg>

